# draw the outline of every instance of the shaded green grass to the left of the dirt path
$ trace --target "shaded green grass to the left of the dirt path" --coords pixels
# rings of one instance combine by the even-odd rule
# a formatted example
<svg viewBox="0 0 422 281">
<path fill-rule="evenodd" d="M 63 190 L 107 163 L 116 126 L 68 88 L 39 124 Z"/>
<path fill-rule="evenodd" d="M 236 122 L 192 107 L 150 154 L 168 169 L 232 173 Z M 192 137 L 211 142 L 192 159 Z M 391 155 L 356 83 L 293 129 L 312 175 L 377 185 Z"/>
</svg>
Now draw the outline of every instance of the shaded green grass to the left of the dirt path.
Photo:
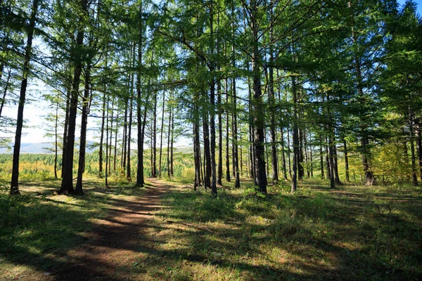
<svg viewBox="0 0 422 281">
<path fill-rule="evenodd" d="M 87 240 L 95 220 L 106 216 L 109 200 L 141 195 L 121 185 L 103 188 L 91 179 L 83 197 L 57 195 L 60 181 L 21 183 L 20 196 L 0 190 L 0 280 L 23 278 L 28 272 L 44 272 L 66 266 L 66 252 Z M 27 277 L 26 277 L 27 278 Z"/>
</svg>

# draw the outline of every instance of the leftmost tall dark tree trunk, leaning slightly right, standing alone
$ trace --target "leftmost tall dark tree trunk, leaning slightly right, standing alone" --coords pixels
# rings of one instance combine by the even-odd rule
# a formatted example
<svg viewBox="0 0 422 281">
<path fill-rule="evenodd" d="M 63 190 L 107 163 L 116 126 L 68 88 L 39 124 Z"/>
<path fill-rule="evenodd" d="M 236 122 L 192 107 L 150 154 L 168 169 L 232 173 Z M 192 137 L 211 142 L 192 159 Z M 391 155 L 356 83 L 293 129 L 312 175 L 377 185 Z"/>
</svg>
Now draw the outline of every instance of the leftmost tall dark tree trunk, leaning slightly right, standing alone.
<svg viewBox="0 0 422 281">
<path fill-rule="evenodd" d="M 11 195 L 18 195 L 19 192 L 19 156 L 20 156 L 20 140 L 22 138 L 23 128 L 23 107 L 25 106 L 26 89 L 28 84 L 28 75 L 30 74 L 30 61 L 32 55 L 32 37 L 34 36 L 35 20 L 38 11 L 38 0 L 32 3 L 32 11 L 30 18 L 30 25 L 27 29 L 27 44 L 25 47 L 25 60 L 23 63 L 22 82 L 20 84 L 19 105 L 18 105 L 18 120 L 16 122 L 15 145 L 13 147 L 13 163 L 12 163 L 12 178 L 11 178 Z"/>
</svg>

